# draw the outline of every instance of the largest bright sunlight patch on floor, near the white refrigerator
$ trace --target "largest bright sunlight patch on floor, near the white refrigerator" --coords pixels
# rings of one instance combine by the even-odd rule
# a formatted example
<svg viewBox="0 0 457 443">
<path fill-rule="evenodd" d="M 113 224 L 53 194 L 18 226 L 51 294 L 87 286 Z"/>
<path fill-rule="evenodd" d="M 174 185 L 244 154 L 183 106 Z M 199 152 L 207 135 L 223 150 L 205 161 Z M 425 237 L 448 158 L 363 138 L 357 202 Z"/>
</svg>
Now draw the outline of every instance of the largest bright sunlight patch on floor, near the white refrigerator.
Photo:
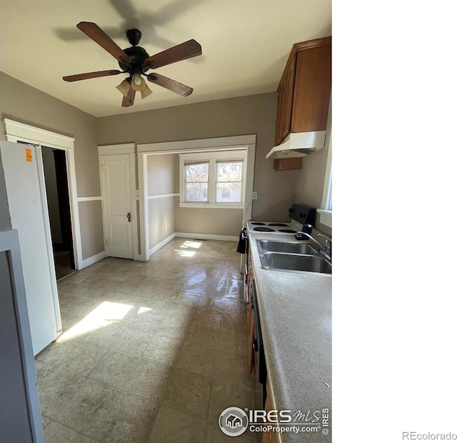
<svg viewBox="0 0 457 443">
<path fill-rule="evenodd" d="M 74 324 L 68 331 L 61 334 L 56 342 L 65 342 L 109 324 L 119 322 L 133 308 L 131 304 L 102 302 L 80 322 Z"/>
</svg>

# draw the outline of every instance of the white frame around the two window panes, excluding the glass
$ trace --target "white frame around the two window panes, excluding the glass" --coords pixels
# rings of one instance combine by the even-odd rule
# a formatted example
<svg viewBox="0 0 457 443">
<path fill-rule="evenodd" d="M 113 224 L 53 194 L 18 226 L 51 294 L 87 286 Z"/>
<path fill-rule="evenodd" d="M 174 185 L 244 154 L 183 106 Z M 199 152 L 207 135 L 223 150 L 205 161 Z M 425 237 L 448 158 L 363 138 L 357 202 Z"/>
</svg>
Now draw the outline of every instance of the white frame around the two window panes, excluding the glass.
<svg viewBox="0 0 457 443">
<path fill-rule="evenodd" d="M 186 168 L 185 164 L 192 162 L 209 162 L 208 181 L 208 202 L 186 201 Z M 217 186 L 217 161 L 243 161 L 243 173 L 241 181 L 241 201 L 239 203 L 216 202 Z M 230 151 L 209 151 L 196 152 L 193 154 L 179 154 L 179 207 L 184 208 L 224 208 L 244 209 L 244 198 L 246 194 L 246 171 L 247 151 L 246 149 Z"/>
</svg>

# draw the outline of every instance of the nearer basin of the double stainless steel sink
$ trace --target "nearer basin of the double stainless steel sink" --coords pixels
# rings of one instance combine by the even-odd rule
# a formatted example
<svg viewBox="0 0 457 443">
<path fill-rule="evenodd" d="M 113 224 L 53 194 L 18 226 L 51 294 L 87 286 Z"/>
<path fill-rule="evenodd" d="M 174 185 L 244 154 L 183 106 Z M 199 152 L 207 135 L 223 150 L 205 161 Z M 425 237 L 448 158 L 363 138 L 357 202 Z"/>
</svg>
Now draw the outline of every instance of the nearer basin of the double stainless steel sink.
<svg viewBox="0 0 457 443">
<path fill-rule="evenodd" d="M 262 259 L 263 258 L 263 259 Z M 261 256 L 261 264 L 264 269 L 281 269 L 287 271 L 318 272 L 319 274 L 331 274 L 331 263 L 323 257 L 316 255 L 278 254 L 277 252 L 265 252 Z"/>
</svg>

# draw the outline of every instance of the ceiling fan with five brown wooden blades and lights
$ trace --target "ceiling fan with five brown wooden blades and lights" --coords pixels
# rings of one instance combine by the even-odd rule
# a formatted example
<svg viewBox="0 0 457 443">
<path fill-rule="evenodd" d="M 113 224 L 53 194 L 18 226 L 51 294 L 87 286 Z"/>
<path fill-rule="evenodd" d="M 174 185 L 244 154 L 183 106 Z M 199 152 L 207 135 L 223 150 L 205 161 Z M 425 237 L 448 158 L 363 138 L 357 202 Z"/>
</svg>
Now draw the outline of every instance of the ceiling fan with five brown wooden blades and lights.
<svg viewBox="0 0 457 443">
<path fill-rule="evenodd" d="M 131 106 L 134 104 L 136 91 L 141 92 L 141 98 L 152 94 L 151 89 L 146 85 L 146 81 L 142 76 L 146 76 L 151 83 L 158 84 L 170 91 L 176 92 L 181 96 L 189 96 L 194 89 L 179 83 L 179 81 L 169 79 L 160 74 L 146 74 L 149 69 L 160 68 L 166 64 L 175 63 L 191 57 L 201 55 L 201 46 L 194 39 L 185 41 L 165 51 L 159 52 L 154 56 L 149 56 L 145 49 L 137 46 L 141 39 L 141 32 L 138 29 L 129 29 L 126 31 L 127 39 L 132 45 L 130 48 L 121 49 L 98 25 L 89 21 L 81 21 L 76 27 L 89 36 L 92 40 L 98 43 L 103 49 L 109 52 L 119 62 L 118 69 L 109 69 L 107 71 L 86 72 L 85 74 L 76 74 L 62 77 L 65 81 L 78 81 L 86 79 L 94 79 L 96 77 L 111 76 L 117 74 L 129 74 L 129 77 L 121 81 L 119 86 L 116 86 L 124 95 L 122 106 Z"/>
</svg>

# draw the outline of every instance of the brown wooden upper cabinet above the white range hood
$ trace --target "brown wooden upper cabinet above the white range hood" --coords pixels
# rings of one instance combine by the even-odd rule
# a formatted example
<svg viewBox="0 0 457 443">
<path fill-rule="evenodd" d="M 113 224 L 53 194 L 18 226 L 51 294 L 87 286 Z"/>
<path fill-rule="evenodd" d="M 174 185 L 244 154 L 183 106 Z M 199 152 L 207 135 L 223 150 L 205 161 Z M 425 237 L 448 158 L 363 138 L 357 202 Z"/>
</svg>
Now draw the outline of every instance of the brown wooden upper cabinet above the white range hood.
<svg viewBox="0 0 457 443">
<path fill-rule="evenodd" d="M 331 36 L 293 45 L 276 92 L 276 146 L 291 132 L 326 130 Z"/>
</svg>

